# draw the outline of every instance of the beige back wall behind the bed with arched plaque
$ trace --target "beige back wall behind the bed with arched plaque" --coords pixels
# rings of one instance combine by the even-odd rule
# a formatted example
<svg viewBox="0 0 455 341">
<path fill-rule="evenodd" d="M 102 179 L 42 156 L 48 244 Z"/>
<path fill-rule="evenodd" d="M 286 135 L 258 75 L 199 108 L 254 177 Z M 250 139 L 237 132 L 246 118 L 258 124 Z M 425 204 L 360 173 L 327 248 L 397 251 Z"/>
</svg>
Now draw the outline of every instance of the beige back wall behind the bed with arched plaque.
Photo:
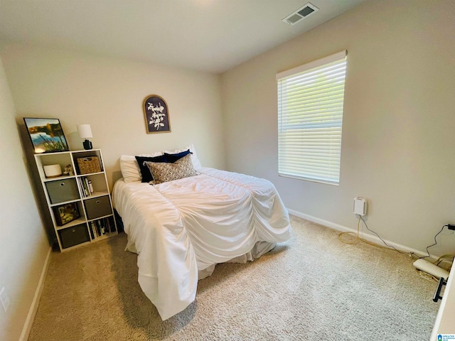
<svg viewBox="0 0 455 341">
<path fill-rule="evenodd" d="M 218 75 L 28 45 L 4 44 L 0 54 L 16 117 L 60 119 L 72 150 L 83 149 L 77 124 L 90 124 L 111 188 L 122 154 L 192 143 L 203 166 L 225 167 Z M 149 94 L 166 100 L 171 133 L 146 134 Z"/>
</svg>

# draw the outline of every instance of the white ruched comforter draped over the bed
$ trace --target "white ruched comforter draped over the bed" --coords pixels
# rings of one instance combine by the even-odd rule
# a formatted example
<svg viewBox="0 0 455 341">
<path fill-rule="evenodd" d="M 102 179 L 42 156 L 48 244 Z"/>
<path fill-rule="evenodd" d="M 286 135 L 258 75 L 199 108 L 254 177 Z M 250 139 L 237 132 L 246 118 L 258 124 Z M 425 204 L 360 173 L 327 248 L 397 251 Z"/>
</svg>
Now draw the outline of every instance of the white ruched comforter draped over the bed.
<svg viewBox="0 0 455 341">
<path fill-rule="evenodd" d="M 215 264 L 252 260 L 291 237 L 274 185 L 239 173 L 202 168 L 153 186 L 120 179 L 113 198 L 127 250 L 138 254 L 139 284 L 163 320 L 194 301 Z"/>
</svg>

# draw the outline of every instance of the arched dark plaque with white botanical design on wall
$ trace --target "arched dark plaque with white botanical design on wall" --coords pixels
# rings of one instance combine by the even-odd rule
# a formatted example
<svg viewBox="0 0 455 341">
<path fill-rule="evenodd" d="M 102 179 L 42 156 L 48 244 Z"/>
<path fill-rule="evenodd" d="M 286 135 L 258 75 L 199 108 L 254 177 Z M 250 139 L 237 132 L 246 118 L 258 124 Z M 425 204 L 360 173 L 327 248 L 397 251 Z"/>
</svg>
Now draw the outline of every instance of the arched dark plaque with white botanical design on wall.
<svg viewBox="0 0 455 341">
<path fill-rule="evenodd" d="M 168 104 L 163 98 L 156 94 L 147 96 L 142 103 L 142 109 L 144 109 L 147 134 L 171 131 Z"/>
</svg>

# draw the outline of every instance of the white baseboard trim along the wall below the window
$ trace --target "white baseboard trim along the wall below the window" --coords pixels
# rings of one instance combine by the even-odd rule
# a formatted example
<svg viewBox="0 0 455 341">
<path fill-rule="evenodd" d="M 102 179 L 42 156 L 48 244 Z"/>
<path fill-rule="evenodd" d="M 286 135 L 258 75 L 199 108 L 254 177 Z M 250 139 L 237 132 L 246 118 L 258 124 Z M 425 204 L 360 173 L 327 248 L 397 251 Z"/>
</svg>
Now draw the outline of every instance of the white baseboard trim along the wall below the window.
<svg viewBox="0 0 455 341">
<path fill-rule="evenodd" d="M 312 215 L 306 215 L 305 213 L 302 213 L 302 212 L 299 212 L 299 211 L 296 211 L 296 210 L 290 210 L 289 208 L 287 210 L 288 210 L 289 214 L 291 214 L 291 215 L 295 215 L 296 217 L 300 217 L 300 218 L 302 218 L 304 220 L 309 220 L 310 222 L 316 222 L 316 224 L 321 224 L 323 226 L 330 227 L 331 229 L 336 229 L 336 230 L 341 231 L 341 232 L 353 232 L 355 234 L 357 233 L 356 229 L 351 229 L 350 227 L 346 227 L 346 226 L 343 226 L 343 225 L 340 225 L 340 224 L 336 224 L 334 222 L 329 222 L 328 220 L 323 220 L 323 219 L 318 218 L 318 217 L 313 217 Z M 362 233 L 362 238 L 368 240 L 368 242 L 372 242 L 372 243 L 375 243 L 375 244 L 378 244 L 378 245 L 381 245 L 381 246 L 385 246 L 384 243 L 382 242 L 382 240 L 378 236 L 376 236 L 375 234 L 363 232 Z M 417 256 L 421 256 L 421 257 L 422 256 L 427 256 L 427 252 L 426 251 L 420 251 L 420 250 L 417 250 L 417 249 L 412 249 L 410 247 L 406 247 L 405 245 L 397 244 L 395 242 L 391 242 L 390 240 L 387 240 L 387 239 L 383 239 L 383 240 L 388 245 L 391 245 L 392 247 L 395 247 L 396 249 L 398 249 L 400 251 L 412 252 L 413 254 L 416 254 Z M 432 259 L 434 259 L 434 260 L 438 259 L 437 256 L 434 256 L 432 254 L 430 254 L 430 257 Z"/>
</svg>

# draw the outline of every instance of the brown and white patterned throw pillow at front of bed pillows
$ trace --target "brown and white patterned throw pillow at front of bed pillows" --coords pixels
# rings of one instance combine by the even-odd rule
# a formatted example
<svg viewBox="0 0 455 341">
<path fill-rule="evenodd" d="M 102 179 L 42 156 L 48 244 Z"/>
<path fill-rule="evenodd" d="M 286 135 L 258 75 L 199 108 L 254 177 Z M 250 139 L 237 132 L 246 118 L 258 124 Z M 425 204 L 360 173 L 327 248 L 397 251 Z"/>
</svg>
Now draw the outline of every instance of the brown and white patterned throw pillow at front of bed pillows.
<svg viewBox="0 0 455 341">
<path fill-rule="evenodd" d="M 183 156 L 174 163 L 146 162 L 146 165 L 154 177 L 155 184 L 197 175 L 191 161 L 191 154 Z"/>
</svg>

